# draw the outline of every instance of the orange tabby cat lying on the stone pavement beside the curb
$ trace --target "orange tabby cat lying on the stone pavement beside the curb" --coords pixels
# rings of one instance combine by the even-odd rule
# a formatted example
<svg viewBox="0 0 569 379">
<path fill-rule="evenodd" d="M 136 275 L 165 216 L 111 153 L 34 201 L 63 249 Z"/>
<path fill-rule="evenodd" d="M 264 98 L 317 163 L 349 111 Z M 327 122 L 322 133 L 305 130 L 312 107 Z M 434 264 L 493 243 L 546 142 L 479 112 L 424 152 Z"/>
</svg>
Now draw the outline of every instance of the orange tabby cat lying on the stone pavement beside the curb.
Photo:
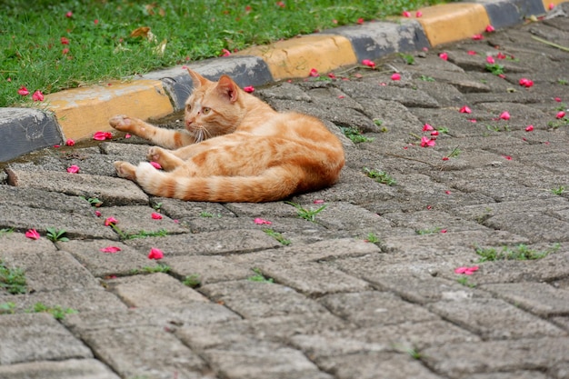
<svg viewBox="0 0 569 379">
<path fill-rule="evenodd" d="M 266 202 L 333 185 L 344 166 L 338 138 L 318 119 L 278 113 L 227 75 L 211 82 L 188 70 L 195 89 L 185 129 L 168 130 L 116 115 L 115 129 L 155 145 L 138 166 L 115 162 L 119 176 L 148 194 L 207 202 Z"/>
</svg>

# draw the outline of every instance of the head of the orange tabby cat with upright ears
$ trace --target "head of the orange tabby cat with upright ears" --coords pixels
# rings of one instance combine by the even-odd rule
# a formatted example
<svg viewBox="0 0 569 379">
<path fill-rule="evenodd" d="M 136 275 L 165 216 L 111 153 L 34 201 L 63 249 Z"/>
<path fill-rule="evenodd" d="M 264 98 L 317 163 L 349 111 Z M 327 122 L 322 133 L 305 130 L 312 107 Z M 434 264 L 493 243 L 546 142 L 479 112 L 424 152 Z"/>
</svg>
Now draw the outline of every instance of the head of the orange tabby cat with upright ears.
<svg viewBox="0 0 569 379">
<path fill-rule="evenodd" d="M 185 128 L 198 142 L 216 135 L 233 133 L 245 116 L 245 92 L 227 75 L 212 82 L 188 69 L 194 92 L 185 102 Z"/>
</svg>

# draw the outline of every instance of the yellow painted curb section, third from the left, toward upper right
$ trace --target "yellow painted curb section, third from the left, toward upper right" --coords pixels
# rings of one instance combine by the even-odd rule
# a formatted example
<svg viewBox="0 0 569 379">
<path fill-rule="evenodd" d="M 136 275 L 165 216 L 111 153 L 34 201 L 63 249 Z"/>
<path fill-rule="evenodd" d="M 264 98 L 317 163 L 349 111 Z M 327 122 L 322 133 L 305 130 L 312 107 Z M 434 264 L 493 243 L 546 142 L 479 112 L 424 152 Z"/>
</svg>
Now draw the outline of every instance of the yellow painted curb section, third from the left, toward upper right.
<svg viewBox="0 0 569 379">
<path fill-rule="evenodd" d="M 482 33 L 490 19 L 480 4 L 454 3 L 420 9 L 423 16 L 417 21 L 432 46 L 470 38 Z"/>
</svg>

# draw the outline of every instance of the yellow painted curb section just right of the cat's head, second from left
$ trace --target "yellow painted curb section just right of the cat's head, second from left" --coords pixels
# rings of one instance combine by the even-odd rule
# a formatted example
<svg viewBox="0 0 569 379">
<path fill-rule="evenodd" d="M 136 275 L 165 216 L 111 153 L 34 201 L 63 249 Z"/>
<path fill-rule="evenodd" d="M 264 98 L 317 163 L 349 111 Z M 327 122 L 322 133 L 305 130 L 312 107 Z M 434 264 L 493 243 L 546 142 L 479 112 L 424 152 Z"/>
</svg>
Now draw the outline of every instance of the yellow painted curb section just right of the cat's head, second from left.
<svg viewBox="0 0 569 379">
<path fill-rule="evenodd" d="M 255 46 L 237 53 L 265 60 L 275 80 L 307 77 L 310 70 L 326 73 L 357 58 L 350 41 L 342 35 L 306 35 L 271 45 Z"/>
</svg>

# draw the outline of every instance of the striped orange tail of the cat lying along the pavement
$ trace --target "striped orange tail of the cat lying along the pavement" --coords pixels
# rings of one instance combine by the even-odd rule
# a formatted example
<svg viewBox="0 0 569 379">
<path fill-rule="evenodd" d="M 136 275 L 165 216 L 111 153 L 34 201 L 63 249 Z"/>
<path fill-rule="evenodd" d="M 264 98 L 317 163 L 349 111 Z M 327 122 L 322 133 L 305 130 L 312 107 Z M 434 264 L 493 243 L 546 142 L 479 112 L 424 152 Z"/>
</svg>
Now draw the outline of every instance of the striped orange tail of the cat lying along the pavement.
<svg viewBox="0 0 569 379">
<path fill-rule="evenodd" d="M 187 177 L 156 170 L 143 162 L 136 167 L 136 182 L 146 193 L 173 197 L 187 201 L 214 203 L 248 202 L 260 203 L 282 200 L 291 194 L 304 192 L 300 187 L 302 170 L 284 166 L 267 169 L 259 176 L 207 176 Z M 330 180 L 313 184 L 312 190 L 333 185 Z"/>
</svg>

